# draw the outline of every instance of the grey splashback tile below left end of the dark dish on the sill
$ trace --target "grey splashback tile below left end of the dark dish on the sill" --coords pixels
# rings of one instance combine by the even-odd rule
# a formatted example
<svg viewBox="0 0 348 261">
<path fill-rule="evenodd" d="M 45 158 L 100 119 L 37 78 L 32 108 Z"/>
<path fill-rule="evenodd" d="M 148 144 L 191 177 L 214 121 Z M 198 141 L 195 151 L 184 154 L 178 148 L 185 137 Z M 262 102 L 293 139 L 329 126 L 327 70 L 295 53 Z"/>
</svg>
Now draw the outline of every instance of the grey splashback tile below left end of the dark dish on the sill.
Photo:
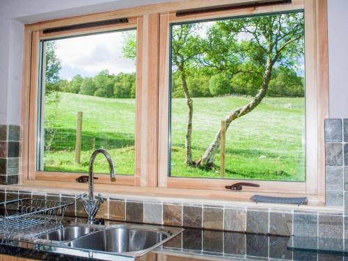
<svg viewBox="0 0 348 261">
<path fill-rule="evenodd" d="M 267 234 L 269 231 L 269 212 L 247 211 L 246 232 L 255 234 Z"/>
</svg>

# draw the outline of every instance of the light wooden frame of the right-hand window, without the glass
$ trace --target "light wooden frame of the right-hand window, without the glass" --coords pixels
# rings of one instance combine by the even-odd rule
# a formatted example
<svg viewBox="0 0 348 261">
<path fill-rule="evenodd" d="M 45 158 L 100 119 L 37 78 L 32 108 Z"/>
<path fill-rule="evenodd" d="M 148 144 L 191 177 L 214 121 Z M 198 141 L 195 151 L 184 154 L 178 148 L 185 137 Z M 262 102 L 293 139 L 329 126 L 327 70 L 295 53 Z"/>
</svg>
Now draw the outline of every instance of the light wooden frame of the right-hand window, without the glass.
<svg viewBox="0 0 348 261">
<path fill-rule="evenodd" d="M 223 190 L 226 185 L 245 180 L 168 177 L 168 115 L 169 107 L 169 48 L 170 25 L 178 22 L 200 21 L 221 17 L 258 15 L 291 10 L 303 10 L 305 16 L 305 61 L 306 61 L 306 182 L 282 182 L 253 180 L 259 188 L 244 187 L 237 193 L 286 193 L 308 195 L 313 200 L 324 202 L 324 118 L 329 111 L 328 57 L 326 2 L 316 0 L 293 0 L 286 5 L 264 6 L 223 10 L 213 13 L 179 16 L 173 13 L 161 15 L 160 79 L 159 79 L 159 186 L 180 189 Z"/>
</svg>

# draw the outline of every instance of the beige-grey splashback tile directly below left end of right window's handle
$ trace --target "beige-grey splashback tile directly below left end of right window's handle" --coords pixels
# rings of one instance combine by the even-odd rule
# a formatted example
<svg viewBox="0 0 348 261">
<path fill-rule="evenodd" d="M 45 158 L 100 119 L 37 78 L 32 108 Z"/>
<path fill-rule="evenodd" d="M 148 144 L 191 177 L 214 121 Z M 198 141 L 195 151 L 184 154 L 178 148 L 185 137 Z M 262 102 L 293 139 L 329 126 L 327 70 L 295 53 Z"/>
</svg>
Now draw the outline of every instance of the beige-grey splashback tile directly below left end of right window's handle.
<svg viewBox="0 0 348 261">
<path fill-rule="evenodd" d="M 225 209 L 224 230 L 244 232 L 246 212 L 244 209 Z"/>
</svg>

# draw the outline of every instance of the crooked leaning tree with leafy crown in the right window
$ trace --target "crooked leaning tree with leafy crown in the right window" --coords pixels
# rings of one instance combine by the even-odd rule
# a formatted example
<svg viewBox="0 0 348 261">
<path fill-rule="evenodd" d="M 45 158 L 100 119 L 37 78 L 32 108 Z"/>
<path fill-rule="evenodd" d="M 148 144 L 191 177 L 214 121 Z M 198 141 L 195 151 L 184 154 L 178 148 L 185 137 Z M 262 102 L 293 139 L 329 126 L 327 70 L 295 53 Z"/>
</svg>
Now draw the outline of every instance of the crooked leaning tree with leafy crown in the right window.
<svg viewBox="0 0 348 261">
<path fill-rule="evenodd" d="M 241 33 L 248 35 L 248 38 L 241 40 Z M 233 120 L 253 111 L 266 96 L 276 63 L 284 68 L 292 68 L 299 55 L 303 54 L 303 13 L 216 22 L 207 38 L 209 45 L 214 48 L 208 49 L 204 61 L 206 65 L 217 72 L 262 74 L 258 93 L 253 99 L 226 116 L 228 128 Z M 198 166 L 214 166 L 220 137 L 221 129 L 216 132 L 202 157 L 196 161 Z"/>
</svg>

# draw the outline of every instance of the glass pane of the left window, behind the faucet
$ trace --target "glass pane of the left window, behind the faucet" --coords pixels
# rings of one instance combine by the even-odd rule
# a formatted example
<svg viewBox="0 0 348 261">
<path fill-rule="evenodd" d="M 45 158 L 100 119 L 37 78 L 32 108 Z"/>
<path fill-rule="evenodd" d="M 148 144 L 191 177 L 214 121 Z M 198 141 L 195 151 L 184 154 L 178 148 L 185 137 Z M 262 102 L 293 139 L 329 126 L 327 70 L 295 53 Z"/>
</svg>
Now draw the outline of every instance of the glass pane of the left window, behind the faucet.
<svg viewBox="0 0 348 261">
<path fill-rule="evenodd" d="M 38 170 L 86 173 L 104 148 L 116 173 L 134 174 L 135 58 L 134 29 L 42 42 Z M 95 162 L 109 173 L 102 155 Z"/>
</svg>

